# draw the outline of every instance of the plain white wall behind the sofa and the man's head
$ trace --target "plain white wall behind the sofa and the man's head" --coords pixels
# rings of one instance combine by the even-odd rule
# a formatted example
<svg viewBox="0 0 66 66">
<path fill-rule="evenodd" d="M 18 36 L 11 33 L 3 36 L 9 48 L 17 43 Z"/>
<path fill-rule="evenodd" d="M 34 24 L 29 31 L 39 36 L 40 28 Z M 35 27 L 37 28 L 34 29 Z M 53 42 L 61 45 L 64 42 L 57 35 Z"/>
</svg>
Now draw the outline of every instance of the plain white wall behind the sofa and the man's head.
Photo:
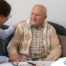
<svg viewBox="0 0 66 66">
<path fill-rule="evenodd" d="M 35 4 L 43 4 L 47 7 L 47 20 L 66 27 L 66 0 L 6 0 L 12 6 L 12 18 L 7 25 L 14 25 L 21 20 L 28 19 L 32 7 Z"/>
</svg>

